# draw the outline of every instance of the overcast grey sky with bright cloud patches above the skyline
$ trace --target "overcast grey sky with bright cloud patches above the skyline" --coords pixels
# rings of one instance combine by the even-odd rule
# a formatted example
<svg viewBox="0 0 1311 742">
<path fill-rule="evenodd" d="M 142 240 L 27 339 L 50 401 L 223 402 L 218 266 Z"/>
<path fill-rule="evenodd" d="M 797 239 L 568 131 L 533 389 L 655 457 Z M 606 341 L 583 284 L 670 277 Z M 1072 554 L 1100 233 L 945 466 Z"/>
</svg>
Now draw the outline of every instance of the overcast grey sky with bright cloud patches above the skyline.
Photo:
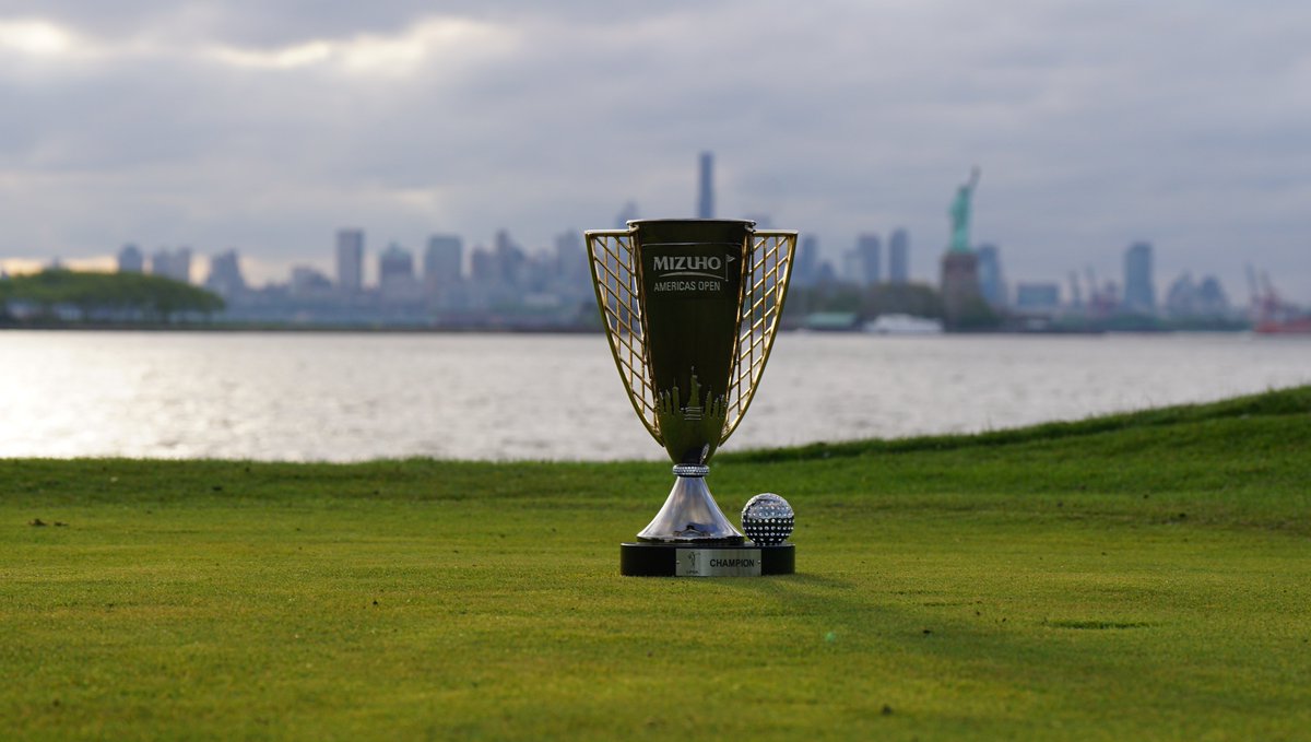
<svg viewBox="0 0 1311 742">
<path fill-rule="evenodd" d="M 536 249 L 691 215 L 709 149 L 720 216 L 830 257 L 902 225 L 936 281 L 979 165 L 1012 282 L 1148 240 L 1162 287 L 1311 300 L 1308 39 L 1304 0 L 0 0 L 0 260 Z"/>
</svg>

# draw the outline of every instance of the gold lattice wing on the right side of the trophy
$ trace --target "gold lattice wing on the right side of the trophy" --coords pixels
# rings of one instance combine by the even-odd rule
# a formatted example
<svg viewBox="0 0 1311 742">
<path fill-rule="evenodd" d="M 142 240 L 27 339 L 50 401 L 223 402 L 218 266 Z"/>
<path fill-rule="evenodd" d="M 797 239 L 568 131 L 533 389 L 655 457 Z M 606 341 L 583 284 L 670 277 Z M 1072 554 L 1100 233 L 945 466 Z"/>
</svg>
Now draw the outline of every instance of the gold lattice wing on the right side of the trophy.
<svg viewBox="0 0 1311 742">
<path fill-rule="evenodd" d="M 788 292 L 788 274 L 797 246 L 796 232 L 756 231 L 751 240 L 751 250 L 745 261 L 747 273 L 742 275 L 742 299 L 738 303 L 742 313 L 738 317 L 738 345 L 729 378 L 728 418 L 720 443 L 737 430 L 760 383 L 760 374 L 764 372 L 764 363 L 770 359 L 773 337 L 779 333 L 779 321 L 783 319 L 783 300 Z"/>
</svg>

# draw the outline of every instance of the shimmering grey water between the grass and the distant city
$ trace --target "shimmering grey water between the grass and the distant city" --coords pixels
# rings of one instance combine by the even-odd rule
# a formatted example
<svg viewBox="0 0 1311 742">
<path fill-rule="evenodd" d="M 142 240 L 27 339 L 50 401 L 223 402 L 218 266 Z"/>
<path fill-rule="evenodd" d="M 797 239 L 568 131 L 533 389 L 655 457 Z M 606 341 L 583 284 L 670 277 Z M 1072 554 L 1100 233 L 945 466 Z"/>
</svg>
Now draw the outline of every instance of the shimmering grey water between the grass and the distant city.
<svg viewBox="0 0 1311 742">
<path fill-rule="evenodd" d="M 1311 338 L 780 336 L 725 450 L 1311 383 Z M 0 456 L 662 459 L 602 336 L 0 333 Z"/>
</svg>

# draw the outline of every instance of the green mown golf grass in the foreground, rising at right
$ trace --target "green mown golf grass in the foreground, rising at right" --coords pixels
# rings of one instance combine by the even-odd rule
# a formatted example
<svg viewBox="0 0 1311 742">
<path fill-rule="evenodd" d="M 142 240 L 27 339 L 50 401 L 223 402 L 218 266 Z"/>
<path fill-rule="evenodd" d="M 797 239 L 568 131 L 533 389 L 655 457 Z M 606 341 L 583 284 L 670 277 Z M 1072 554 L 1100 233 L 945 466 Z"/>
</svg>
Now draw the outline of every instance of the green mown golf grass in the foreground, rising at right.
<svg viewBox="0 0 1311 742">
<path fill-rule="evenodd" d="M 1307 739 L 1308 442 L 1311 387 L 722 455 L 798 514 L 755 579 L 619 576 L 659 463 L 0 460 L 0 737 Z"/>
</svg>

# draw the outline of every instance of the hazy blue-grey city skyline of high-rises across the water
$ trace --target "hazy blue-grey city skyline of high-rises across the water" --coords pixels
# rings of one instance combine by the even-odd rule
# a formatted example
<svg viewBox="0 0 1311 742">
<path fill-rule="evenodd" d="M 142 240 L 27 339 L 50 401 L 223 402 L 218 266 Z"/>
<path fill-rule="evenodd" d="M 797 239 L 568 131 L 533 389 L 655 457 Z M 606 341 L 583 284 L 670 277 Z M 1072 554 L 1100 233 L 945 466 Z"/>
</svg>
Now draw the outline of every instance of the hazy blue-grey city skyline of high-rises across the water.
<svg viewBox="0 0 1311 742">
<path fill-rule="evenodd" d="M 705 214 L 704 206 L 713 203 L 714 182 L 711 173 L 713 153 L 701 152 L 697 157 L 697 203 L 699 212 Z M 708 197 L 709 194 L 709 197 Z M 636 205 L 628 202 L 616 216 L 616 227 L 625 219 L 640 218 Z M 708 218 L 708 216 L 697 216 Z M 756 215 L 768 225 L 768 215 Z M 860 232 L 855 236 L 855 243 L 847 249 L 832 249 L 819 252 L 818 240 L 814 236 L 802 235 L 797 254 L 794 274 L 802 284 L 814 282 L 839 282 L 853 286 L 873 286 L 878 283 L 922 283 L 933 286 L 940 277 L 916 275 L 907 269 L 914 250 L 910 249 L 911 237 L 906 228 L 897 227 L 886 232 L 889 249 L 886 256 L 882 249 L 882 236 L 880 232 Z M 193 249 L 180 246 L 176 249 L 160 248 L 146 260 L 146 253 L 135 243 L 125 244 L 117 256 L 109 257 L 97 266 L 97 270 L 146 270 L 159 273 L 177 279 L 186 279 L 197 284 L 208 284 L 212 275 L 219 271 L 218 286 L 240 286 L 245 288 L 290 286 L 295 288 L 309 277 L 312 281 L 332 284 L 334 288 L 345 288 L 347 292 L 361 292 L 362 290 L 380 290 L 384 287 L 388 274 L 388 253 L 393 260 L 406 261 L 408 267 L 402 273 L 416 281 L 427 284 L 427 290 L 434 290 L 434 281 L 450 282 L 475 279 L 479 273 L 479 258 L 482 254 L 496 254 L 503 252 L 506 245 L 513 245 L 528 260 L 555 260 L 565 261 L 568 246 L 574 245 L 579 257 L 583 256 L 581 231 L 565 229 L 553 237 L 553 245 L 539 248 L 524 248 L 513 241 L 509 229 L 498 229 L 490 243 L 494 248 L 488 248 L 482 243 L 468 245 L 460 235 L 434 232 L 420 240 L 426 244 L 425 249 L 410 249 L 399 240 L 380 240 L 370 260 L 367 248 L 367 231 L 359 227 L 338 228 L 334 235 L 336 249 L 332 256 L 317 260 L 300 261 L 287 266 L 287 273 L 281 277 L 271 277 L 266 281 L 248 281 L 241 267 L 240 252 L 227 249 L 212 253 L 210 267 L 202 261 L 193 261 Z M 994 243 L 974 243 L 971 252 L 978 261 L 978 287 L 983 299 L 992 307 L 1002 309 L 1007 307 L 1024 308 L 1025 305 L 1050 305 L 1071 309 L 1096 308 L 1109 311 L 1112 308 L 1130 312 L 1155 313 L 1167 307 L 1167 302 L 1158 300 L 1158 296 L 1167 296 L 1180 286 L 1192 281 L 1194 271 L 1189 267 L 1162 274 L 1156 267 L 1155 248 L 1151 241 L 1134 240 L 1122 252 L 1121 270 L 1100 274 L 1091 265 L 1074 267 L 1065 277 L 1030 277 L 1021 266 L 1016 271 L 1015 265 L 1003 267 L 1006 264 L 1000 248 Z M 440 253 L 440 254 L 438 254 Z M 945 250 L 941 253 L 945 254 Z M 932 260 L 937 260 L 931 254 Z M 182 265 L 184 267 L 177 267 Z M 324 267 L 330 265 L 332 267 Z M 1009 273 L 1015 271 L 1019 279 L 1011 281 Z M 1003 275 L 1006 273 L 1007 275 Z M 1270 282 L 1268 273 L 1257 271 L 1251 264 L 1244 266 L 1245 283 L 1240 288 L 1226 288 L 1224 282 L 1214 274 L 1201 273 L 1203 282 L 1214 284 L 1210 291 L 1222 295 L 1227 308 L 1242 308 L 1252 305 L 1260 300 L 1277 296 L 1289 302 L 1287 294 L 1278 292 L 1278 286 Z M 233 281 L 233 275 L 239 278 Z M 299 277 L 299 278 L 298 278 Z M 452 278 L 454 277 L 454 278 Z M 447 286 L 450 288 L 450 286 Z M 416 291 L 418 287 L 416 287 Z M 1034 295 L 1038 291 L 1049 298 L 1042 302 L 1025 302 L 1023 295 Z M 1188 290 L 1190 291 L 1190 290 Z M 1243 291 L 1247 291 L 1244 294 Z M 1276 294 L 1270 294 L 1274 291 Z M 224 291 L 219 291 L 224 294 Z M 1295 302 L 1294 302 L 1295 303 Z"/>
</svg>

